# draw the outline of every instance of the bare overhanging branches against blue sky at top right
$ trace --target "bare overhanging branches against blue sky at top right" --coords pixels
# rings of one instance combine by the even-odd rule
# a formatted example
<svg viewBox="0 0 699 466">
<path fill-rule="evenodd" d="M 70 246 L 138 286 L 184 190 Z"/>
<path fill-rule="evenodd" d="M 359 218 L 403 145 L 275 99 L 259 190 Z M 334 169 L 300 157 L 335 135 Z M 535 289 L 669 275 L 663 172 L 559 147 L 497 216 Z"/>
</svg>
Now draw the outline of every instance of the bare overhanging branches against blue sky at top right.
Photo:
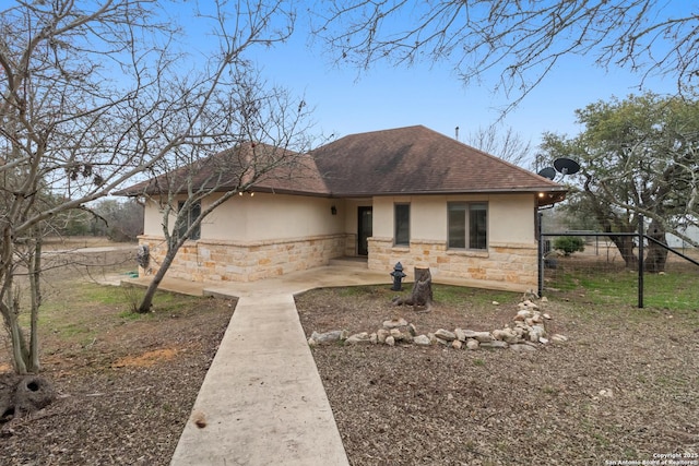
<svg viewBox="0 0 699 466">
<path fill-rule="evenodd" d="M 337 61 L 363 68 L 379 60 L 451 63 L 465 83 L 499 75 L 514 92 L 509 108 L 566 56 L 591 57 L 603 69 L 697 84 L 696 5 L 653 0 L 520 1 L 335 0 L 317 9 L 316 34 Z"/>
</svg>

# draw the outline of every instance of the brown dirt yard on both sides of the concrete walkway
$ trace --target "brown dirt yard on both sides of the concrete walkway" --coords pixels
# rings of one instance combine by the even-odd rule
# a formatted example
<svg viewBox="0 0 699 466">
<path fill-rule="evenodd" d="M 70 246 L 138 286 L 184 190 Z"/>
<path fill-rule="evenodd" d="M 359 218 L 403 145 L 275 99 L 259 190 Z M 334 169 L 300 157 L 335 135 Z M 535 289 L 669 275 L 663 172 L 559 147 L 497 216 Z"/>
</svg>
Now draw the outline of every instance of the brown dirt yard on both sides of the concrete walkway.
<svg viewBox="0 0 699 466">
<path fill-rule="evenodd" d="M 0 422 L 0 463 L 167 465 L 235 302 L 199 300 L 134 319 L 103 288 L 90 290 L 102 292 L 98 304 L 71 303 L 78 285 L 62 278 L 57 272 L 47 292 L 70 312 L 44 321 L 42 340 L 59 399 Z M 415 313 L 392 306 L 394 296 L 388 286 L 316 290 L 297 297 L 297 308 L 308 336 L 371 333 L 394 318 L 418 333 L 491 331 L 511 322 L 521 298 L 437 285 L 431 311 Z M 550 298 L 540 303 L 553 318 L 548 331 L 569 340 L 534 353 L 315 347 L 351 464 L 605 465 L 663 454 L 699 464 L 697 309 Z"/>
</svg>

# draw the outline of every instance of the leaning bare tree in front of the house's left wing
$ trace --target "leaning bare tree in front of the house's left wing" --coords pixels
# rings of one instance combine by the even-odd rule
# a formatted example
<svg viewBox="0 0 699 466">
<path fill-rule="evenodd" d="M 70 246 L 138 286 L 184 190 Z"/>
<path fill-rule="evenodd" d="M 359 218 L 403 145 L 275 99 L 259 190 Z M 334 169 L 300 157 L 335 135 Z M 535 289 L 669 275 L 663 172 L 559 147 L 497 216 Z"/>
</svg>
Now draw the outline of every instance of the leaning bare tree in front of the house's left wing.
<svg viewBox="0 0 699 466">
<path fill-rule="evenodd" d="M 214 210 L 235 195 L 250 195 L 256 184 L 270 179 L 313 174 L 306 103 L 245 80 L 240 76 L 238 92 L 223 96 L 206 118 L 209 133 L 232 136 L 229 148 L 213 154 L 206 145 L 178 147 L 154 167 L 153 172 L 162 175 L 122 192 L 158 206 L 166 250 L 137 312 L 151 310 L 177 252 L 186 241 L 199 239 L 202 222 Z"/>
</svg>

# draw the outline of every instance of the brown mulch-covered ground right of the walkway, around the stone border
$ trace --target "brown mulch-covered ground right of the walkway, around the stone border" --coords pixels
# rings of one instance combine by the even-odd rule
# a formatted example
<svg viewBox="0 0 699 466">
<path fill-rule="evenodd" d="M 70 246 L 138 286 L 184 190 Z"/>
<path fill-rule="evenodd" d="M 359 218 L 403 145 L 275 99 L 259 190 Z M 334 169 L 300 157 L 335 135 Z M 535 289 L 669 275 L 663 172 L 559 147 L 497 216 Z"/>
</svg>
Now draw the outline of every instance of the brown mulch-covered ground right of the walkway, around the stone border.
<svg viewBox="0 0 699 466">
<path fill-rule="evenodd" d="M 501 328 L 521 300 L 498 294 L 495 304 L 488 291 L 475 290 L 454 299 L 436 286 L 437 304 L 415 313 L 392 306 L 393 295 L 387 287 L 316 290 L 297 307 L 308 336 L 371 333 L 395 318 L 428 333 Z M 549 333 L 569 340 L 534 353 L 315 347 L 351 463 L 606 465 L 678 454 L 699 464 L 698 312 L 583 301 L 573 295 L 540 302 L 553 316 Z"/>
</svg>

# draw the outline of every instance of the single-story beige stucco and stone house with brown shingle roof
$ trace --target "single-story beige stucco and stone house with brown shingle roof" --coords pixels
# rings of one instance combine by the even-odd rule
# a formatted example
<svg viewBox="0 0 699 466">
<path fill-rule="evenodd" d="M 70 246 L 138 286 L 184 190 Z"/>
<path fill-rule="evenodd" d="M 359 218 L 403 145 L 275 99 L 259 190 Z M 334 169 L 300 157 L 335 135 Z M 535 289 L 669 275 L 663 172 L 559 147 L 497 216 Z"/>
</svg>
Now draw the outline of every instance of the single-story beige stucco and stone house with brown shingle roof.
<svg viewBox="0 0 699 466">
<path fill-rule="evenodd" d="M 565 187 L 423 126 L 347 135 L 306 160 L 300 175 L 263 177 L 216 207 L 168 275 L 251 282 L 353 256 L 387 274 L 401 262 L 408 274 L 419 266 L 484 287 L 536 287 L 536 212 L 562 201 Z M 156 267 L 164 243 L 153 195 L 140 243 Z"/>
</svg>

